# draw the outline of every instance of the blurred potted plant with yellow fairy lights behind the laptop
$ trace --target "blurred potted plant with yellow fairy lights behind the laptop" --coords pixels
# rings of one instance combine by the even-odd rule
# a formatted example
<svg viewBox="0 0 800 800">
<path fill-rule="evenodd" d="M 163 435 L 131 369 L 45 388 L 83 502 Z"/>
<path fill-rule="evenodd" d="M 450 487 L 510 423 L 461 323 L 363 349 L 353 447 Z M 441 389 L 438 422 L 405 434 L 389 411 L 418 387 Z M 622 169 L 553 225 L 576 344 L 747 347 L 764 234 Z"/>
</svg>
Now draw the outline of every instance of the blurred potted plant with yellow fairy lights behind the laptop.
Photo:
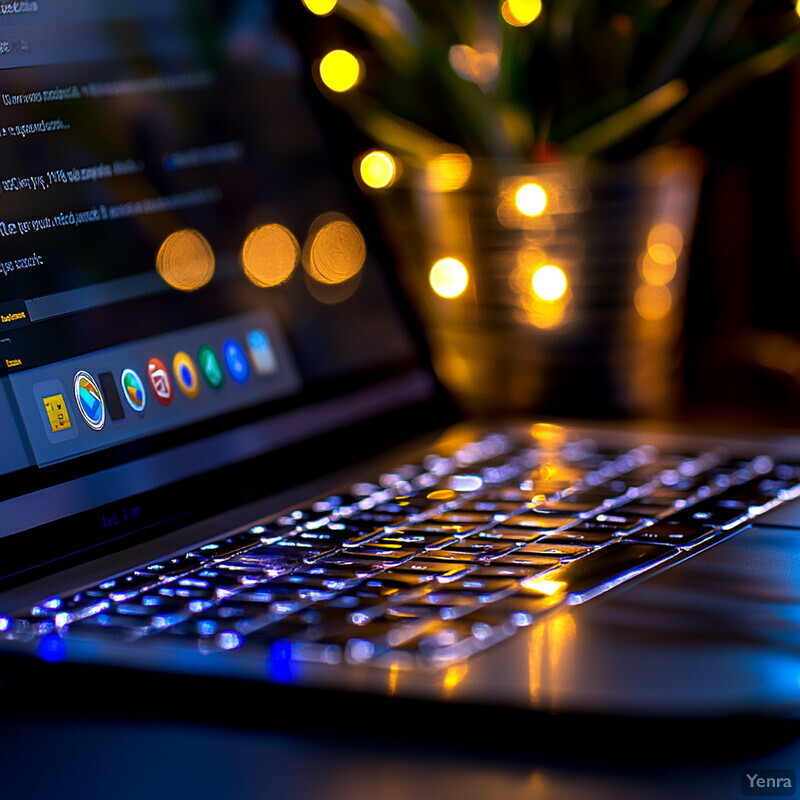
<svg viewBox="0 0 800 800">
<path fill-rule="evenodd" d="M 390 227 L 418 234 L 398 241 L 456 393 L 668 411 L 702 172 L 681 136 L 796 57 L 792 4 L 303 3 L 321 91 L 374 143 L 356 178 L 413 202 Z"/>
</svg>

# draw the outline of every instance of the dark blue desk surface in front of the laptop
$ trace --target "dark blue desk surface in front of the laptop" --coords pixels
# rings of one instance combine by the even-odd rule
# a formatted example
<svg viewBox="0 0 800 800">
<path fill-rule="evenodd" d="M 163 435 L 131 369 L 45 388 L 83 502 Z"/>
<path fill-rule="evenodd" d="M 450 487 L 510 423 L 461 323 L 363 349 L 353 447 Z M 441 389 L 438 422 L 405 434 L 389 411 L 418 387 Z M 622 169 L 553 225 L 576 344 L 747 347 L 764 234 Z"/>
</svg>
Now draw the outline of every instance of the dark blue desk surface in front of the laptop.
<svg viewBox="0 0 800 800">
<path fill-rule="evenodd" d="M 514 734 L 517 747 L 504 755 L 500 748 L 481 747 L 477 731 L 474 743 L 450 744 L 107 717 L 4 716 L 0 725 L 9 798 L 730 800 L 742 796 L 744 770 L 800 764 L 797 738 L 762 752 L 752 743 L 754 754 L 747 757 L 698 762 L 701 752 L 669 738 L 661 747 L 674 758 L 651 761 L 628 758 L 624 747 L 615 757 L 570 757 L 557 749 L 542 754 L 536 748 L 526 753 L 519 746 L 524 729 Z M 377 726 L 368 721 L 365 727 Z M 609 724 L 610 737 L 618 731 Z M 566 750 L 569 742 L 562 745 Z"/>
</svg>

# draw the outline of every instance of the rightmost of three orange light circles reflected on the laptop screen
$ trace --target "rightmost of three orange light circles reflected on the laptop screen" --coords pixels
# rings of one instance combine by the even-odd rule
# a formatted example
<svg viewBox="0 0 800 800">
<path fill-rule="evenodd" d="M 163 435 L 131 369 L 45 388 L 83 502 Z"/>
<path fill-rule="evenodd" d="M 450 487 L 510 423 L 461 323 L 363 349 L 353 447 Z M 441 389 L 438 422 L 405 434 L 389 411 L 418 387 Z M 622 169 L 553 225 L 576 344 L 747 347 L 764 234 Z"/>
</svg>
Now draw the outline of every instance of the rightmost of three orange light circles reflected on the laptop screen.
<svg viewBox="0 0 800 800">
<path fill-rule="evenodd" d="M 311 225 L 303 266 L 319 283 L 340 284 L 356 276 L 364 266 L 367 246 L 356 225 L 344 214 L 323 214 Z"/>
</svg>

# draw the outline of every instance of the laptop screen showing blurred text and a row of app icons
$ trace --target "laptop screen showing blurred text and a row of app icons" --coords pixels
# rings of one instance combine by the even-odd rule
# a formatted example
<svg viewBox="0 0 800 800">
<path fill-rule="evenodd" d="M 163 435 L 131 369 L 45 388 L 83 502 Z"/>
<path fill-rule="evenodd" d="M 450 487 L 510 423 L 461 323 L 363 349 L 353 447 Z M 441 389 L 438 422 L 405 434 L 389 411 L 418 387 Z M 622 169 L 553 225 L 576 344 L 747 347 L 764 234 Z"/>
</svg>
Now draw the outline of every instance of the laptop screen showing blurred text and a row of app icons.
<svg viewBox="0 0 800 800">
<path fill-rule="evenodd" d="M 278 5 L 0 4 L 0 553 L 434 391 Z"/>
</svg>

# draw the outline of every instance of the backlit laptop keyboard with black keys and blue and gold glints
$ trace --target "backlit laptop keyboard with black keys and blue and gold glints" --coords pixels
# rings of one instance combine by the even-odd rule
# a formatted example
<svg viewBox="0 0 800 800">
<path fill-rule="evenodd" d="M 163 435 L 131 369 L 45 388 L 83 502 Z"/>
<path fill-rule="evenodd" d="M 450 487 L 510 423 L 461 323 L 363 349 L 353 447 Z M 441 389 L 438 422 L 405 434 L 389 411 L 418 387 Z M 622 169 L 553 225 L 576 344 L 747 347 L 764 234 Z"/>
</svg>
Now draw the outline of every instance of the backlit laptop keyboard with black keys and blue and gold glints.
<svg viewBox="0 0 800 800">
<path fill-rule="evenodd" d="M 491 434 L 52 597 L 13 639 L 111 637 L 326 664 L 447 666 L 800 494 L 767 456 Z"/>
</svg>

